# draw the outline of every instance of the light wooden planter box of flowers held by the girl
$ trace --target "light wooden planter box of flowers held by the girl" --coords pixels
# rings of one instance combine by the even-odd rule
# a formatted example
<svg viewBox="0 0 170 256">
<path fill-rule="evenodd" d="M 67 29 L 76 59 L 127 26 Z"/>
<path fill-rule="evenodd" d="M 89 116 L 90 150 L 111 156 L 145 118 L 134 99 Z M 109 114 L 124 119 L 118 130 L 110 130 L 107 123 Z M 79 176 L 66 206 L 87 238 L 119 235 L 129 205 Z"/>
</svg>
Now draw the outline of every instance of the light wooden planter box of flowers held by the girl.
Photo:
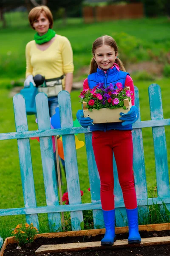
<svg viewBox="0 0 170 256">
<path fill-rule="evenodd" d="M 131 101 L 129 102 L 128 99 L 124 99 L 124 106 L 126 107 L 126 109 L 101 108 L 99 110 L 93 109 L 92 111 L 89 111 L 88 108 L 86 108 L 86 105 L 87 105 L 87 102 L 83 102 L 84 116 L 90 117 L 91 119 L 93 119 L 94 124 L 107 123 L 107 122 L 122 122 L 122 120 L 119 120 L 119 117 L 121 117 L 120 112 L 127 113 L 132 106 Z"/>
</svg>

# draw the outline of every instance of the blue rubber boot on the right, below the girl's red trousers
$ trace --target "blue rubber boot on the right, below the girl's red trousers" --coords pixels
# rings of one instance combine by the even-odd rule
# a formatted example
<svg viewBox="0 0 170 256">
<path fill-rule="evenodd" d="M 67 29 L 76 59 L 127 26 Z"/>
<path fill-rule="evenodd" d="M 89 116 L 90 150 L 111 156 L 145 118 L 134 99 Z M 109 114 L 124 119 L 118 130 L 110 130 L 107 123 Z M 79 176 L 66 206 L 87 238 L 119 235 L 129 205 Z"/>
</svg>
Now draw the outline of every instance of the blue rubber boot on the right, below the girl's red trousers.
<svg viewBox="0 0 170 256">
<path fill-rule="evenodd" d="M 129 226 L 128 244 L 140 244 L 141 236 L 138 227 L 138 208 L 126 209 L 126 213 Z"/>
</svg>

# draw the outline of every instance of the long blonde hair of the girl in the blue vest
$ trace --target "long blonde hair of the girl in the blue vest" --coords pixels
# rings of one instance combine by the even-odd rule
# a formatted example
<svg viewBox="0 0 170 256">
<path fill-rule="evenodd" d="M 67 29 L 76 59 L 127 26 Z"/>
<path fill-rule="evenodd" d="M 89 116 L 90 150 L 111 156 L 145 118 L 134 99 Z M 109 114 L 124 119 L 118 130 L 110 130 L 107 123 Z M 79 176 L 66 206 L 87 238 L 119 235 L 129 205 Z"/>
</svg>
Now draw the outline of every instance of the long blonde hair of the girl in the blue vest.
<svg viewBox="0 0 170 256">
<path fill-rule="evenodd" d="M 93 46 L 92 46 L 92 54 L 94 55 L 96 49 L 98 47 L 101 47 L 102 45 L 108 45 L 115 50 L 116 54 L 118 53 L 118 46 L 116 44 L 116 41 L 109 35 L 103 35 L 94 41 Z M 119 65 L 120 70 L 126 71 L 122 61 L 119 58 L 116 58 L 115 63 Z M 95 73 L 97 71 L 97 67 L 98 67 L 98 65 L 93 57 L 91 60 L 91 64 L 90 64 L 89 74 Z"/>
</svg>

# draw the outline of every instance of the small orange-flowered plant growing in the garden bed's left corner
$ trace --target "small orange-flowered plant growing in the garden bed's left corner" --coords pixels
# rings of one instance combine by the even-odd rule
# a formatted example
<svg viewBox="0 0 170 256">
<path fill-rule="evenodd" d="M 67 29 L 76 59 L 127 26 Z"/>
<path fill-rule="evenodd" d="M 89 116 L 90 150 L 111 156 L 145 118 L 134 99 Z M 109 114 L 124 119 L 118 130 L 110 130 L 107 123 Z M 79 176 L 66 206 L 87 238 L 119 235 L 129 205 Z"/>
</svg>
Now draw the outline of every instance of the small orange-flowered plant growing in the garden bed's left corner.
<svg viewBox="0 0 170 256">
<path fill-rule="evenodd" d="M 30 225 L 26 223 L 18 224 L 12 235 L 17 239 L 18 245 L 23 246 L 24 244 L 32 244 L 37 233 L 38 230 L 32 223 Z"/>
</svg>

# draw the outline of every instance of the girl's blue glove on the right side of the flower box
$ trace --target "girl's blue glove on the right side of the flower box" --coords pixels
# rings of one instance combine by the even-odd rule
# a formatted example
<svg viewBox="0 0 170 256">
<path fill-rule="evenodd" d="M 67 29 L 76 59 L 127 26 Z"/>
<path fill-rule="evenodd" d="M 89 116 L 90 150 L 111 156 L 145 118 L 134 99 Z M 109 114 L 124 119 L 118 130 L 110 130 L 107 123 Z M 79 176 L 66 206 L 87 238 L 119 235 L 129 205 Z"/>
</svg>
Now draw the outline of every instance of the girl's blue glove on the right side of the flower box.
<svg viewBox="0 0 170 256">
<path fill-rule="evenodd" d="M 120 112 L 120 116 L 119 120 L 125 121 L 122 122 L 122 126 L 133 124 L 139 118 L 138 108 L 136 106 L 132 106 L 129 112 Z"/>
</svg>

